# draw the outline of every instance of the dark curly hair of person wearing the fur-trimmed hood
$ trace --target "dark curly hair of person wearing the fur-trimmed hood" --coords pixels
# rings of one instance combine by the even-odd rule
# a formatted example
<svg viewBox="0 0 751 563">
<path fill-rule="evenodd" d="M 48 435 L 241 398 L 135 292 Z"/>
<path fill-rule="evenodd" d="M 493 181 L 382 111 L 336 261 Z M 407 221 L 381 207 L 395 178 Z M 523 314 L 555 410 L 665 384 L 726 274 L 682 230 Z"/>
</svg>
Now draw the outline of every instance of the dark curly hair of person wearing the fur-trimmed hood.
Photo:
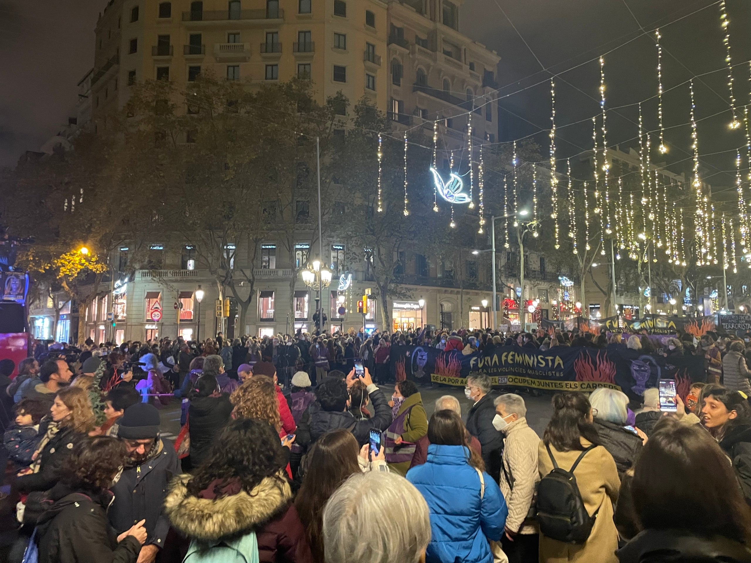
<svg viewBox="0 0 751 563">
<path fill-rule="evenodd" d="M 287 458 L 279 435 L 265 420 L 233 420 L 214 442 L 207 459 L 198 466 L 188 483 L 188 492 L 197 496 L 213 481 L 218 487 L 239 480 L 246 492 L 266 477 L 279 477 Z"/>
</svg>

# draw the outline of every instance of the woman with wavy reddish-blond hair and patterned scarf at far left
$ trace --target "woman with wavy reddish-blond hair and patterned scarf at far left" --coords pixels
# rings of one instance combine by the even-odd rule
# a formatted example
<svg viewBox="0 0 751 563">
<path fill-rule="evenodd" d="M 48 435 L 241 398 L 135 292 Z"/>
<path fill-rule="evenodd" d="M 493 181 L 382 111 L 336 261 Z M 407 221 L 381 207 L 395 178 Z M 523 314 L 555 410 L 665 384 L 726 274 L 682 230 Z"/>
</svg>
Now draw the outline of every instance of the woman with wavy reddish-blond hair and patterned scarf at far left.
<svg viewBox="0 0 751 563">
<path fill-rule="evenodd" d="M 31 467 L 21 471 L 15 486 L 20 492 L 46 491 L 59 480 L 63 460 L 73 447 L 94 428 L 94 411 L 89 393 L 80 387 L 63 387 L 57 392 L 50 414 L 42 419 L 43 436 Z"/>
</svg>

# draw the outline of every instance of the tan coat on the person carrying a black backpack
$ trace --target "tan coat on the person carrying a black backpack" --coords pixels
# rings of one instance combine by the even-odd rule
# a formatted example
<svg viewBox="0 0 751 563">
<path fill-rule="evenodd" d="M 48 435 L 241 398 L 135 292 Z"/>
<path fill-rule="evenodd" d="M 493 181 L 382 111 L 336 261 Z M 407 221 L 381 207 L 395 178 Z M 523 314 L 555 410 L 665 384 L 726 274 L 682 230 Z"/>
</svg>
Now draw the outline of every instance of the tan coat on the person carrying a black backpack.
<svg viewBox="0 0 751 563">
<path fill-rule="evenodd" d="M 581 439 L 584 447 L 590 442 Z M 559 452 L 552 445 L 550 451 L 556 458 L 559 468 L 570 469 L 581 451 Z M 540 475 L 553 471 L 553 462 L 547 455 L 545 444 L 538 447 L 538 467 Z M 618 563 L 615 550 L 618 549 L 618 531 L 613 522 L 613 504 L 618 500 L 620 480 L 613 456 L 599 446 L 584 456 L 574 471 L 581 498 L 590 516 L 599 508 L 590 539 L 584 545 L 562 543 L 540 534 L 540 563 Z"/>
</svg>

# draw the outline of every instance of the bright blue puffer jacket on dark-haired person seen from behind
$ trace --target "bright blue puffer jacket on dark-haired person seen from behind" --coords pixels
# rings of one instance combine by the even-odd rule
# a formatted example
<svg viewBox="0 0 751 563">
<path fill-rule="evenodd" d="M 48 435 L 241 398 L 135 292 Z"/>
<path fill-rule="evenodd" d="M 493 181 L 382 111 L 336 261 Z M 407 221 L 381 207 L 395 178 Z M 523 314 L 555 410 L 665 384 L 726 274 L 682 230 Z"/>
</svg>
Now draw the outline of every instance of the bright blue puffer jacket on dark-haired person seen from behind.
<svg viewBox="0 0 751 563">
<path fill-rule="evenodd" d="M 487 473 L 480 497 L 480 477 L 467 459 L 466 447 L 430 444 L 427 462 L 407 472 L 430 507 L 427 563 L 493 563 L 487 540 L 501 539 L 508 508 Z"/>
</svg>

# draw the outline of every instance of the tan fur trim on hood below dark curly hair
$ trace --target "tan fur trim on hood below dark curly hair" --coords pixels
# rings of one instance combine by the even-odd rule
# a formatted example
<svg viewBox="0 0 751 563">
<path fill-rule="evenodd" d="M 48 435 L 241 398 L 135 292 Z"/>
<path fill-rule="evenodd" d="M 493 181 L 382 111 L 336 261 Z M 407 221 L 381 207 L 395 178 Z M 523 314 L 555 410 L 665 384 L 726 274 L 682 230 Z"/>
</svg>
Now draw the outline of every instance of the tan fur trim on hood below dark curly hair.
<svg viewBox="0 0 751 563">
<path fill-rule="evenodd" d="M 191 475 L 182 474 L 173 480 L 164 499 L 164 512 L 176 530 L 196 540 L 216 541 L 247 533 L 268 522 L 292 500 L 289 484 L 273 477 L 266 477 L 249 493 L 217 498 L 189 495 L 191 479 Z"/>
</svg>

